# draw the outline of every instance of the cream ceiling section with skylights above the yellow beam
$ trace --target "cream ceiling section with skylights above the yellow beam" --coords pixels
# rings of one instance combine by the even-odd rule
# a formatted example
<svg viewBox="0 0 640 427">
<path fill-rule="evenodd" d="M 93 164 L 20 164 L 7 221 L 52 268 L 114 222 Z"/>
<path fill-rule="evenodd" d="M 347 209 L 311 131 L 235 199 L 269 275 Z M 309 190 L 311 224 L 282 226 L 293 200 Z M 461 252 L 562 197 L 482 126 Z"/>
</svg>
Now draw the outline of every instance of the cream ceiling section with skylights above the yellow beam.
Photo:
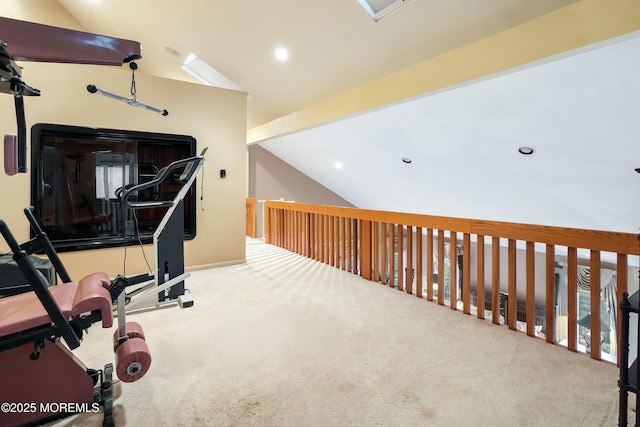
<svg viewBox="0 0 640 427">
<path fill-rule="evenodd" d="M 142 73 L 195 81 L 180 68 L 194 52 L 251 94 L 252 128 L 576 0 L 415 0 L 377 23 L 358 0 L 57 1 L 87 31 L 142 43 Z"/>
</svg>

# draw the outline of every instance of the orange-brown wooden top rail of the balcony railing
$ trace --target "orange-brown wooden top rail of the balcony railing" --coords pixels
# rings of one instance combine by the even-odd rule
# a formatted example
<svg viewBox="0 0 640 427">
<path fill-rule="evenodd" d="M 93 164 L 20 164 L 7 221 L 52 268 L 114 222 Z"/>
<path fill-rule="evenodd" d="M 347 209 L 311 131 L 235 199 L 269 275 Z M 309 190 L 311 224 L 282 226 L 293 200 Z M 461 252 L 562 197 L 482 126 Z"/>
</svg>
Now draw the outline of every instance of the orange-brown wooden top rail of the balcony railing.
<svg viewBox="0 0 640 427">
<path fill-rule="evenodd" d="M 390 224 L 456 231 L 481 236 L 524 240 L 574 248 L 594 249 L 627 255 L 640 255 L 638 236 L 615 231 L 585 230 L 548 225 L 518 224 L 502 221 L 452 218 L 390 211 L 267 201 L 266 208 L 285 209 Z"/>
</svg>

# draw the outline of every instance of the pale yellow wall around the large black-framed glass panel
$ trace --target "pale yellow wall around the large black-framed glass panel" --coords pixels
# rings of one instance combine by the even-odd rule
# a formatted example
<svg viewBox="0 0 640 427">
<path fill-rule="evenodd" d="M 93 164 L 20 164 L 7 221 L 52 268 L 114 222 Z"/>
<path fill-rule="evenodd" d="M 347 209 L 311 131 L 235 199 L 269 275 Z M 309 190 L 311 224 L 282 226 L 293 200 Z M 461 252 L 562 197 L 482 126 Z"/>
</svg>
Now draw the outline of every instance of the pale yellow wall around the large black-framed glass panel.
<svg viewBox="0 0 640 427">
<path fill-rule="evenodd" d="M 5 2 L 7 2 L 5 4 Z M 82 29 L 58 7 L 56 2 L 3 0 L 0 15 L 55 25 L 59 18 L 68 28 Z M 9 6 L 13 5 L 11 8 Z M 29 6 L 35 8 L 33 16 Z M 10 12 L 14 12 L 13 14 Z M 46 19 L 45 19 L 46 17 Z M 62 25 L 60 25 L 62 26 Z M 10 48 L 9 48 L 10 51 Z M 145 104 L 165 108 L 166 117 L 131 107 L 100 95 L 90 94 L 88 84 L 129 96 L 131 71 L 128 66 L 105 67 L 23 62 L 23 79 L 41 90 L 39 97 L 25 98 L 27 127 L 35 123 L 55 123 L 113 129 L 192 135 L 197 151 L 208 146 L 204 175 L 197 180 L 197 236 L 185 242 L 185 264 L 200 267 L 242 262 L 245 258 L 246 193 L 246 94 L 136 73 L 137 98 Z M 144 69 L 144 58 L 139 61 Z M 13 99 L 0 94 L 1 133 L 15 133 Z M 218 170 L 226 169 L 220 179 Z M 204 200 L 200 203 L 204 176 Z M 28 225 L 22 210 L 30 203 L 30 175 L 12 177 L 0 173 L 0 218 L 9 224 L 18 241 L 28 239 Z M 204 211 L 201 209 L 204 208 Z M 0 251 L 7 250 L 4 241 Z M 152 260 L 152 246 L 145 246 Z M 120 248 L 68 252 L 62 261 L 72 278 L 102 270 L 110 276 L 123 273 L 124 251 Z M 127 248 L 127 274 L 146 272 L 139 247 Z"/>
</svg>

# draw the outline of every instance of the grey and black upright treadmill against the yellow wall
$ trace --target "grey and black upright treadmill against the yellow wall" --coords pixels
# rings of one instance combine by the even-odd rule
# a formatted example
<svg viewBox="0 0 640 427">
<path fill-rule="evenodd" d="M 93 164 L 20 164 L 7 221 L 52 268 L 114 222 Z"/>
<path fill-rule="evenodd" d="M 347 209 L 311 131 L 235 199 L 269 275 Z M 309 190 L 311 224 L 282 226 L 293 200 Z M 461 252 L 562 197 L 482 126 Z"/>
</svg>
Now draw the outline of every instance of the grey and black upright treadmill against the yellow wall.
<svg viewBox="0 0 640 427">
<path fill-rule="evenodd" d="M 154 271 L 133 277 L 117 276 L 109 287 L 114 302 L 119 295 L 123 295 L 127 311 L 176 303 L 183 308 L 193 305 L 193 299 L 185 293 L 184 286 L 189 273 L 184 269 L 183 201 L 202 168 L 206 152 L 207 148 L 198 156 L 174 161 L 160 169 L 150 181 L 122 191 L 123 221 L 131 217 L 135 221 L 135 211 L 138 209 L 167 208 L 153 233 Z M 173 198 L 139 200 L 137 197 L 144 190 L 157 188 L 167 182 L 180 186 Z M 122 229 L 126 233 L 126 227 Z"/>
</svg>

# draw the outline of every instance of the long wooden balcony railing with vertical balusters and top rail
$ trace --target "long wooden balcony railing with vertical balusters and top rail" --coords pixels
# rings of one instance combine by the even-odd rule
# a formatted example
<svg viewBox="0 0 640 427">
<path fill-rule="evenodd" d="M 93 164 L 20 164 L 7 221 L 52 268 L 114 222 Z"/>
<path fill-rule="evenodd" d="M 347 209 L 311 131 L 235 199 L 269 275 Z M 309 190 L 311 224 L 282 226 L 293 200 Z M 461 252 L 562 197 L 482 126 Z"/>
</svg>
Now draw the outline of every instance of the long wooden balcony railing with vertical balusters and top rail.
<svg viewBox="0 0 640 427">
<path fill-rule="evenodd" d="M 512 330 L 521 327 L 518 319 L 523 318 L 526 328 L 522 329 L 526 329 L 527 335 L 544 336 L 554 344 L 559 341 L 556 266 L 558 259 L 562 259 L 567 272 L 563 344 L 574 352 L 579 347 L 578 264 L 586 264 L 590 269 L 587 307 L 590 336 L 582 339 L 591 357 L 597 360 L 602 360 L 601 254 L 613 258 L 605 265 L 616 270 L 617 301 L 627 292 L 629 256 L 640 254 L 637 236 L 630 233 L 278 201 L 266 202 L 265 235 L 267 243 L 440 305 L 448 300 L 451 309 L 464 314 L 469 315 L 474 309 L 478 318 L 494 324 L 504 322 Z M 449 262 L 448 272 L 446 263 L 438 261 L 447 258 L 447 247 L 449 260 L 458 261 Z M 524 256 L 518 256 L 519 253 Z M 579 258 L 579 253 L 586 253 L 588 260 Z M 504 263 L 501 258 L 506 259 L 506 275 L 501 275 Z M 540 304 L 536 304 L 536 264 L 544 264 L 544 285 L 542 292 L 538 291 L 542 295 L 537 295 L 538 301 L 542 300 Z M 520 268 L 524 268 L 525 274 L 519 281 Z M 458 270 L 461 278 L 457 277 Z M 506 284 L 501 286 L 504 276 Z M 518 312 L 519 306 L 524 306 L 520 310 L 524 313 Z M 541 323 L 545 334 L 537 330 L 540 325 L 536 329 L 536 321 L 526 321 L 536 319 L 536 315 L 540 318 L 540 310 L 544 311 Z M 615 318 L 620 318 L 619 311 Z M 619 329 L 615 328 L 616 344 L 620 342 Z M 620 354 L 617 346 L 611 349 L 614 355 Z"/>
</svg>

